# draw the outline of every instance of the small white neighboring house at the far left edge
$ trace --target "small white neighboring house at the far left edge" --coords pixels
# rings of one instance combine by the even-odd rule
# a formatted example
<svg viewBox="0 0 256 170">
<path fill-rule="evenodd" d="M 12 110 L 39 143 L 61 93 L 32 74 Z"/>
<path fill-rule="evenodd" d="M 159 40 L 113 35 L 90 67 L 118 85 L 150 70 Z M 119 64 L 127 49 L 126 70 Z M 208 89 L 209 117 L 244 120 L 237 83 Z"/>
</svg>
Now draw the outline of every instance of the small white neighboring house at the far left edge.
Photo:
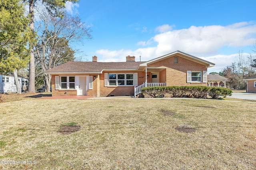
<svg viewBox="0 0 256 170">
<path fill-rule="evenodd" d="M 28 87 L 28 78 L 18 76 L 18 80 L 20 82 L 21 90 L 27 90 Z M 8 92 L 17 92 L 16 83 L 14 82 L 13 74 L 0 74 L 0 92 L 8 93 Z"/>
</svg>

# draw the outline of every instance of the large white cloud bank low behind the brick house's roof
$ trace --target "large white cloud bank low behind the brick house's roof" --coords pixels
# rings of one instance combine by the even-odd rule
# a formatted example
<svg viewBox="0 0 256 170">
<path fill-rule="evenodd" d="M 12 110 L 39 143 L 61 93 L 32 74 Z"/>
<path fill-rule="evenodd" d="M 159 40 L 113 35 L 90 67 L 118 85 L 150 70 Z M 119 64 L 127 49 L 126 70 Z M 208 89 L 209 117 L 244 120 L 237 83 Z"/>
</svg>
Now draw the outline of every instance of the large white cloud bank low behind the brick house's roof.
<svg viewBox="0 0 256 170">
<path fill-rule="evenodd" d="M 162 25 L 163 26 L 163 25 Z M 162 27 L 160 26 L 160 27 Z M 159 27 L 159 28 L 160 28 Z M 164 29 L 158 29 L 164 30 Z M 256 23 L 241 22 L 228 26 L 210 25 L 203 27 L 191 26 L 188 29 L 179 29 L 160 33 L 149 39 L 148 41 L 140 41 L 137 45 L 146 46 L 156 43 L 155 47 L 139 48 L 132 50 L 98 50 L 96 54 L 102 55 L 102 61 L 125 61 L 127 55 L 136 56 L 142 61 L 172 53 L 180 50 L 196 57 L 206 57 L 207 61 L 215 63 L 214 70 L 223 68 L 234 62 L 234 55 L 217 55 L 218 50 L 224 47 L 242 48 L 252 46 L 256 39 Z M 234 51 L 236 53 L 237 51 Z M 214 55 L 214 56 L 213 56 Z"/>
</svg>

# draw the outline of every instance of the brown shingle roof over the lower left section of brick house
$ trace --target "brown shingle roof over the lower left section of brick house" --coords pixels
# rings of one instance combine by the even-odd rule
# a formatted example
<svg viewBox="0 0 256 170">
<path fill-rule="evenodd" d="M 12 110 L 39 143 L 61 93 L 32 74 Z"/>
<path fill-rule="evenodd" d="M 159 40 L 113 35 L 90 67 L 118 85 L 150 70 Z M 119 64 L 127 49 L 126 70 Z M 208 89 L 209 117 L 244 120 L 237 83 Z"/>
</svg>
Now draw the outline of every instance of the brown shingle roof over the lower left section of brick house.
<svg viewBox="0 0 256 170">
<path fill-rule="evenodd" d="M 76 62 L 70 61 L 54 67 L 45 73 L 100 73 L 102 70 L 137 70 L 143 62 Z"/>
</svg>

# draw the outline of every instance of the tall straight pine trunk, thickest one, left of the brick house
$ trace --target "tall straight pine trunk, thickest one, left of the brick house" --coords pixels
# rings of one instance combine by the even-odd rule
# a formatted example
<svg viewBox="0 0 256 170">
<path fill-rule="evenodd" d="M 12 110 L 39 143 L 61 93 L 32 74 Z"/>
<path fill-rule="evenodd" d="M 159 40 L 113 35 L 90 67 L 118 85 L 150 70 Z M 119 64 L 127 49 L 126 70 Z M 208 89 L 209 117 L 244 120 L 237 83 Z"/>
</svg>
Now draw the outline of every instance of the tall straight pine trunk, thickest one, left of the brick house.
<svg viewBox="0 0 256 170">
<path fill-rule="evenodd" d="M 30 24 L 29 27 L 34 33 L 34 0 L 29 1 L 29 14 L 30 14 Z M 36 92 L 35 90 L 35 58 L 34 58 L 34 45 L 32 41 L 29 42 L 30 47 L 30 61 L 29 61 L 29 82 L 28 82 L 28 92 Z"/>
</svg>

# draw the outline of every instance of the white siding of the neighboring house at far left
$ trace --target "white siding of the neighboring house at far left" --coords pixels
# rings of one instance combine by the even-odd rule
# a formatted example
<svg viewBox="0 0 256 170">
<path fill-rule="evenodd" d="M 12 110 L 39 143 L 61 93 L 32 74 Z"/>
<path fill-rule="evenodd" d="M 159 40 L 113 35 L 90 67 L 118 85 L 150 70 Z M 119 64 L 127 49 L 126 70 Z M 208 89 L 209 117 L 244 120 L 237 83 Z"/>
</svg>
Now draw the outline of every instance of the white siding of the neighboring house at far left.
<svg viewBox="0 0 256 170">
<path fill-rule="evenodd" d="M 3 77 L 9 78 L 9 82 L 3 82 Z M 20 88 L 22 88 L 22 86 L 25 86 L 24 84 L 22 85 L 21 82 L 24 81 L 26 82 L 28 79 L 23 78 L 23 77 L 18 77 L 18 79 L 20 80 Z M 8 93 L 8 92 L 17 92 L 17 88 L 16 88 L 16 84 L 14 84 L 14 77 L 13 76 L 5 76 L 0 74 L 0 92 L 1 93 Z"/>
</svg>

